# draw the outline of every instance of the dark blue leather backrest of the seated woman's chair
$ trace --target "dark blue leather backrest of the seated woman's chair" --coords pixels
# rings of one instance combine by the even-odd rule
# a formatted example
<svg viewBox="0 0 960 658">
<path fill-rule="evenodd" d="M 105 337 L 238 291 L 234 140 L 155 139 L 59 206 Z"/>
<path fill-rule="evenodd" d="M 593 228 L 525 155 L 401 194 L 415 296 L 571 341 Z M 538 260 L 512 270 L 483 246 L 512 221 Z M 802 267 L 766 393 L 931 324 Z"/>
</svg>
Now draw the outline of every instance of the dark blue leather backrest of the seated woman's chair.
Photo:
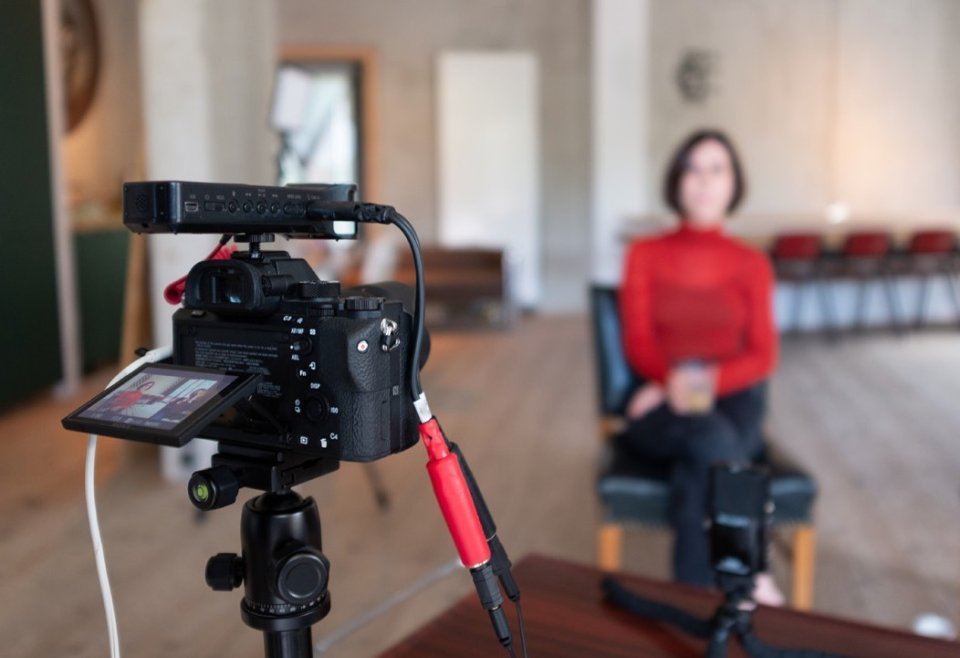
<svg viewBox="0 0 960 658">
<path fill-rule="evenodd" d="M 590 287 L 597 402 L 602 416 L 622 415 L 630 395 L 641 383 L 627 364 L 623 351 L 617 296 L 617 288 L 600 285 Z"/>
</svg>

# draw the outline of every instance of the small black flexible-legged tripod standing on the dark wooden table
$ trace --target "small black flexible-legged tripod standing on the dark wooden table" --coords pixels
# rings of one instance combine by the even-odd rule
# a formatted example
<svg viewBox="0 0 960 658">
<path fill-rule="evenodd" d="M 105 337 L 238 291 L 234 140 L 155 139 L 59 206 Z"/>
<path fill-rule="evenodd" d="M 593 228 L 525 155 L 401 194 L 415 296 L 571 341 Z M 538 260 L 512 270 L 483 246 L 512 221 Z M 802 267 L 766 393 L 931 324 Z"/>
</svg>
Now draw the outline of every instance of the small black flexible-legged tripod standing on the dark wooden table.
<svg viewBox="0 0 960 658">
<path fill-rule="evenodd" d="M 700 619 L 673 606 L 644 599 L 611 577 L 601 587 L 607 598 L 641 617 L 664 622 L 693 637 L 709 640 L 706 658 L 725 658 L 735 637 L 751 658 L 843 658 L 838 654 L 807 649 L 781 649 L 761 642 L 753 633 L 753 578 L 721 575 L 723 603 L 710 619 Z"/>
</svg>

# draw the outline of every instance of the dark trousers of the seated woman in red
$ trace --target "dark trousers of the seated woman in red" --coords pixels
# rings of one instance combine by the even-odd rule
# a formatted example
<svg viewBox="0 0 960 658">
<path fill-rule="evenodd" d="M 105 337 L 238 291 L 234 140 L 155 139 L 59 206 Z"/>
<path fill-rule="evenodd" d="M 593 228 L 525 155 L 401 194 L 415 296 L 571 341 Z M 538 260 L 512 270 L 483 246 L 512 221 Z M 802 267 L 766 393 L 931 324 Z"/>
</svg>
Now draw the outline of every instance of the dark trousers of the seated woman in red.
<svg viewBox="0 0 960 658">
<path fill-rule="evenodd" d="M 697 585 L 713 583 L 709 541 L 703 526 L 710 466 L 756 461 L 763 452 L 762 417 L 763 392 L 755 387 L 719 398 L 713 411 L 699 416 L 678 416 L 662 404 L 630 422 L 617 437 L 618 448 L 671 466 L 670 521 L 676 532 L 676 580 Z"/>
</svg>

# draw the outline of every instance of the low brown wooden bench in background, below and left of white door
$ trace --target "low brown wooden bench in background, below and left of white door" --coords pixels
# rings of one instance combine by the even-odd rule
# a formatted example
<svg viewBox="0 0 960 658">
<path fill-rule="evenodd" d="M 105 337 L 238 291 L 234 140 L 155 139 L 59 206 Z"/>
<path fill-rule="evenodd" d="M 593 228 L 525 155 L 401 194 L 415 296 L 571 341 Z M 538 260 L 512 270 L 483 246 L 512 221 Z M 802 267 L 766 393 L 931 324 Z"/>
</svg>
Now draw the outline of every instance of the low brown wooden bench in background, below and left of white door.
<svg viewBox="0 0 960 658">
<path fill-rule="evenodd" d="M 505 328 L 515 310 L 508 287 L 507 261 L 499 249 L 423 248 L 428 326 L 480 320 Z M 403 249 L 396 280 L 413 285 L 413 257 Z"/>
</svg>

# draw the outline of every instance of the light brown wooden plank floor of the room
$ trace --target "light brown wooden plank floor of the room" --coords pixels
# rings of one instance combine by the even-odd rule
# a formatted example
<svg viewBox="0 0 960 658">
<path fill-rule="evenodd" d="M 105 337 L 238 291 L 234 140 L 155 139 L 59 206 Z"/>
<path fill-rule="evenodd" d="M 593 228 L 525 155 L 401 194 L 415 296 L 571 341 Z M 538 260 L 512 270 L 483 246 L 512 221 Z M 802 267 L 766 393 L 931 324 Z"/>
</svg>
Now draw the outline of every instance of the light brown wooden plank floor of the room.
<svg viewBox="0 0 960 658">
<path fill-rule="evenodd" d="M 82 500 L 86 440 L 59 428 L 105 379 L 75 399 L 0 416 L 0 656 L 107 654 Z M 598 445 L 586 321 L 528 318 L 509 332 L 436 335 L 424 384 L 511 553 L 592 561 Z M 900 626 L 921 612 L 958 621 L 956 391 L 956 334 L 784 345 L 770 428 L 822 489 L 818 610 Z M 333 612 L 315 638 L 453 557 L 423 463 L 419 447 L 377 463 L 392 497 L 386 512 L 354 464 L 302 488 L 317 498 L 332 562 Z M 151 449 L 115 440 L 101 441 L 98 473 L 126 655 L 262 656 L 258 634 L 240 621 L 239 593 L 203 583 L 209 555 L 239 548 L 240 505 L 198 522 L 185 487 L 156 474 Z M 664 533 L 628 534 L 629 569 L 665 576 L 668 543 Z M 775 572 L 782 581 L 784 558 Z M 458 571 L 328 655 L 375 655 L 470 588 Z"/>
</svg>

